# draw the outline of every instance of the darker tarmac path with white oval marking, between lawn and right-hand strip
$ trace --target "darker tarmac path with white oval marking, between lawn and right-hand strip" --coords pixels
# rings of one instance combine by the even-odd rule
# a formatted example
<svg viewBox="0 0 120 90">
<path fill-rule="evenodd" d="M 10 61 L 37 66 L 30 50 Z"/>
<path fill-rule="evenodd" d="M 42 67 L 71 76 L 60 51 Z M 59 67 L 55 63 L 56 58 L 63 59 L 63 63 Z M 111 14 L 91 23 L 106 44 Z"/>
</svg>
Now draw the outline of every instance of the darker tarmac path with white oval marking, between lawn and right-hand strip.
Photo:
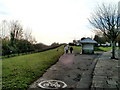
<svg viewBox="0 0 120 90">
<path fill-rule="evenodd" d="M 89 88 L 92 83 L 92 72 L 99 55 L 64 54 L 59 61 L 50 67 L 45 74 L 29 88 L 39 88 L 38 83 L 44 80 L 61 80 L 67 88 Z M 40 89 L 40 88 L 39 88 Z"/>
</svg>

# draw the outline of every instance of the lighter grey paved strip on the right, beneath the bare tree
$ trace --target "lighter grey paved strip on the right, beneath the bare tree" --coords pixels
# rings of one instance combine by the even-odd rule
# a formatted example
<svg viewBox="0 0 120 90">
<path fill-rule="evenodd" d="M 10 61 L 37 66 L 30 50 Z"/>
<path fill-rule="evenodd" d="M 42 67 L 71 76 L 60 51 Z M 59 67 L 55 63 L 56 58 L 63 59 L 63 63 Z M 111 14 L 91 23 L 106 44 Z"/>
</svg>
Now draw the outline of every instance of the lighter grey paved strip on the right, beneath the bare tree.
<svg viewBox="0 0 120 90">
<path fill-rule="evenodd" d="M 120 59 L 120 56 L 116 56 Z M 110 59 L 111 52 L 104 52 L 103 55 L 98 59 L 94 70 L 94 76 L 92 80 L 92 88 L 114 88 L 118 90 L 118 61 Z M 119 81 L 120 83 L 120 81 Z"/>
</svg>

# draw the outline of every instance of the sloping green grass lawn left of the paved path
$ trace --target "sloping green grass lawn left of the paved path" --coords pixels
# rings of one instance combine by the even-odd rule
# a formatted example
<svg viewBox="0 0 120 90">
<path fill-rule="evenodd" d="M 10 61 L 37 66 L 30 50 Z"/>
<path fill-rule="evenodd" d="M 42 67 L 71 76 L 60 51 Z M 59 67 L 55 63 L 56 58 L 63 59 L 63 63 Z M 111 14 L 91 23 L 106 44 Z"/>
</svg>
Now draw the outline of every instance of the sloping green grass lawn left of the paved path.
<svg viewBox="0 0 120 90">
<path fill-rule="evenodd" d="M 57 50 L 58 49 L 58 50 Z M 2 60 L 3 89 L 28 88 L 63 54 L 63 46 L 56 49 Z"/>
</svg>

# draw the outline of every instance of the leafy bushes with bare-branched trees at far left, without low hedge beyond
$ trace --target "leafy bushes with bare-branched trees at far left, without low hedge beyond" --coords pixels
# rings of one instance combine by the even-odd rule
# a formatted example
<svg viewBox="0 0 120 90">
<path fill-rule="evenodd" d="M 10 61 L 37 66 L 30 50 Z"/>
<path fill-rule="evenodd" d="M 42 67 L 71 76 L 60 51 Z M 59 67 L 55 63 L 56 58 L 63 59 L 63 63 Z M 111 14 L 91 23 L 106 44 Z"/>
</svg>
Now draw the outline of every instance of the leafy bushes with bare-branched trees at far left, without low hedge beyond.
<svg viewBox="0 0 120 90">
<path fill-rule="evenodd" d="M 2 30 L 9 30 L 9 32 L 6 32 L 0 37 L 2 39 L 2 55 L 3 56 L 10 56 L 11 54 L 18 54 L 19 53 L 26 53 L 31 52 L 34 49 L 34 45 L 28 40 L 30 37 L 24 38 L 25 33 L 23 32 L 23 26 L 20 24 L 19 21 L 10 21 L 7 22 L 4 20 L 4 23 L 1 24 Z"/>
</svg>

